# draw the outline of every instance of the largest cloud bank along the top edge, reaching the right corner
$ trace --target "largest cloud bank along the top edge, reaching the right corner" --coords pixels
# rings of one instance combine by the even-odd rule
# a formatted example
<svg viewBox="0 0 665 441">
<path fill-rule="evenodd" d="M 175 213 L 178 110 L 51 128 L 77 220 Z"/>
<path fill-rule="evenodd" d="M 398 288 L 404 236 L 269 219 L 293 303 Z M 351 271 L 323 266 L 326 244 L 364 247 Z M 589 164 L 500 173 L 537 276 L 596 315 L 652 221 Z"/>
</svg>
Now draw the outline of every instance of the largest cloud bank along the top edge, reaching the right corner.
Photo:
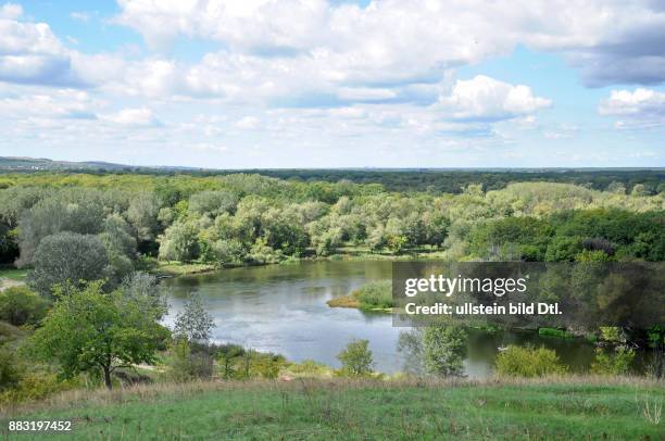
<svg viewBox="0 0 665 441">
<path fill-rule="evenodd" d="M 154 48 L 185 36 L 261 56 L 318 59 L 337 80 L 431 81 L 510 52 L 561 52 L 592 86 L 665 80 L 665 11 L 652 0 L 121 0 L 116 22 Z"/>
</svg>

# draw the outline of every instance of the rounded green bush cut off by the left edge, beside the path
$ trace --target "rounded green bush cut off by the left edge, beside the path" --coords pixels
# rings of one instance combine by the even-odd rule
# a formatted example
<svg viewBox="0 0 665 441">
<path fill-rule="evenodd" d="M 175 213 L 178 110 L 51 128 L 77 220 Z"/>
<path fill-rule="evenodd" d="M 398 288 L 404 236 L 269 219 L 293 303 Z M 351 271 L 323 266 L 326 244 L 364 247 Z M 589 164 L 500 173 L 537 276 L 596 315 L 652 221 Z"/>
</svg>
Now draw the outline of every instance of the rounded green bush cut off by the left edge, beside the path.
<svg viewBox="0 0 665 441">
<path fill-rule="evenodd" d="M 36 325 L 46 317 L 49 301 L 26 287 L 0 292 L 0 320 L 14 326 Z"/>
</svg>

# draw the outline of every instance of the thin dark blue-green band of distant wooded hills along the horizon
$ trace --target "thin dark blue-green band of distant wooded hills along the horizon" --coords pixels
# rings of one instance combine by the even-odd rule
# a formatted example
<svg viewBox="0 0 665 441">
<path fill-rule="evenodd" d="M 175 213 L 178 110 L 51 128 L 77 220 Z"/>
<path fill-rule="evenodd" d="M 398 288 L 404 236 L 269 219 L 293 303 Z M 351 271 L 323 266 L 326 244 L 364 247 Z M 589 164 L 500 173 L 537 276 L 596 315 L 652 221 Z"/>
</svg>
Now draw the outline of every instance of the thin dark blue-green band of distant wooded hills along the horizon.
<svg viewBox="0 0 665 441">
<path fill-rule="evenodd" d="M 109 162 L 70 162 L 48 159 L 0 156 L 1 173 L 90 173 L 223 176 L 256 173 L 280 179 L 301 181 L 349 180 L 380 184 L 389 191 L 435 191 L 459 193 L 469 184 L 482 184 L 484 190 L 498 190 L 510 182 L 567 182 L 605 190 L 620 184 L 631 191 L 640 184 L 647 194 L 665 191 L 665 168 L 251 168 L 216 169 L 177 166 L 136 166 Z"/>
</svg>

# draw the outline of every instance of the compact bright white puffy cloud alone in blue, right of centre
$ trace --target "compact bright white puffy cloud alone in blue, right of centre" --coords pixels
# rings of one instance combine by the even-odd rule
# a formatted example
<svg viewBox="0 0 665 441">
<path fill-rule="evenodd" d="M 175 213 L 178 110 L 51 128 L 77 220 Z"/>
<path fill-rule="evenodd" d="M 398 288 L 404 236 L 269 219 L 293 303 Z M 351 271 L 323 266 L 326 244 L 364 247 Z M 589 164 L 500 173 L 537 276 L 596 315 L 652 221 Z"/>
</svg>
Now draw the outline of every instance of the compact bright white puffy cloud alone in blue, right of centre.
<svg viewBox="0 0 665 441">
<path fill-rule="evenodd" d="M 457 80 L 436 108 L 454 119 L 500 121 L 528 115 L 551 104 L 551 100 L 536 97 L 527 86 L 478 75 Z"/>
</svg>

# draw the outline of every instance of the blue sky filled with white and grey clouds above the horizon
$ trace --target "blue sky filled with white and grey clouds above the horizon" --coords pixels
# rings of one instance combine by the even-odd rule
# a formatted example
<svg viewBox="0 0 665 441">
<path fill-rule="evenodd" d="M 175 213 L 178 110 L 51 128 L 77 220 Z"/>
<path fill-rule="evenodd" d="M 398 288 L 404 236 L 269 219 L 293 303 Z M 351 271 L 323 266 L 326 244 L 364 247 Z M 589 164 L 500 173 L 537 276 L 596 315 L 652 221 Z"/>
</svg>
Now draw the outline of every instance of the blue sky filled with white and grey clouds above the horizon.
<svg viewBox="0 0 665 441">
<path fill-rule="evenodd" d="M 0 0 L 0 155 L 663 167 L 665 1 Z"/>
</svg>

